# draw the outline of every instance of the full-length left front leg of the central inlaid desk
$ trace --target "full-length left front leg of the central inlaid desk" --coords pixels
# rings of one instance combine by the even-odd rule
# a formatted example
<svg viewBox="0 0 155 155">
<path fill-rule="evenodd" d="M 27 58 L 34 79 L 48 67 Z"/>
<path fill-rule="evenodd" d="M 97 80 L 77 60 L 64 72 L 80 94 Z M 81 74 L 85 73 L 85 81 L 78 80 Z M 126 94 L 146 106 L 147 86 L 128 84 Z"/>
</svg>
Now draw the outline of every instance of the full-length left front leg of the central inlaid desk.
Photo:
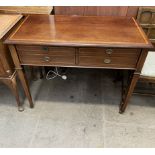
<svg viewBox="0 0 155 155">
<path fill-rule="evenodd" d="M 26 97 L 29 100 L 30 108 L 33 108 L 34 105 L 33 105 L 32 97 L 31 97 L 31 94 L 30 94 L 30 89 L 29 89 L 28 81 L 27 81 L 26 76 L 25 76 L 25 74 L 23 72 L 22 66 L 20 65 L 16 48 L 15 48 L 14 45 L 9 45 L 9 49 L 10 49 L 10 52 L 11 52 L 11 55 L 12 55 L 12 58 L 13 58 L 13 62 L 15 64 L 15 68 L 16 68 L 17 73 L 18 73 L 18 77 L 19 77 L 19 79 L 21 81 L 21 84 L 23 86 L 25 95 L 26 95 Z"/>
</svg>

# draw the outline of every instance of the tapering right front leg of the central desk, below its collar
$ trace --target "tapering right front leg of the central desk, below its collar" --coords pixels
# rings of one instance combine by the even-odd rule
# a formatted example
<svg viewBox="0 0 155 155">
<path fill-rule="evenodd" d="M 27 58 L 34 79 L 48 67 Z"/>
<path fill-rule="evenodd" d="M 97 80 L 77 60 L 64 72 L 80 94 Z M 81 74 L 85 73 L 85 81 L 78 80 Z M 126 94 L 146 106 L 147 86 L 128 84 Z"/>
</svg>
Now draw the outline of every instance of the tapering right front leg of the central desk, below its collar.
<svg viewBox="0 0 155 155">
<path fill-rule="evenodd" d="M 128 88 L 126 89 L 126 91 L 123 92 L 123 96 L 122 96 L 122 101 L 120 104 L 120 109 L 119 109 L 119 113 L 123 113 L 128 105 L 129 99 L 134 91 L 134 88 L 136 86 L 136 83 L 138 81 L 140 77 L 139 73 L 134 73 L 133 77 L 131 78 L 131 81 L 128 85 Z"/>
</svg>

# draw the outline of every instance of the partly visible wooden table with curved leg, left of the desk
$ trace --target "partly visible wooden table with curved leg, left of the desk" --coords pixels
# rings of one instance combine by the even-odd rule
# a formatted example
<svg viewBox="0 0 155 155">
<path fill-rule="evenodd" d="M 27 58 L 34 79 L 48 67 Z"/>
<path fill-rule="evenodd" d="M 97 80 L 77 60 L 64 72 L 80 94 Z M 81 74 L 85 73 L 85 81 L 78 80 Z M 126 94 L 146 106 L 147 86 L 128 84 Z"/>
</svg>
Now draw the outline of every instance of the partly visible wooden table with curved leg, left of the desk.
<svg viewBox="0 0 155 155">
<path fill-rule="evenodd" d="M 9 49 L 3 44 L 9 31 L 22 18 L 22 15 L 4 15 L 0 14 L 0 81 L 6 84 L 16 97 L 19 111 L 21 107 L 16 82 L 16 70 L 12 61 Z"/>
</svg>

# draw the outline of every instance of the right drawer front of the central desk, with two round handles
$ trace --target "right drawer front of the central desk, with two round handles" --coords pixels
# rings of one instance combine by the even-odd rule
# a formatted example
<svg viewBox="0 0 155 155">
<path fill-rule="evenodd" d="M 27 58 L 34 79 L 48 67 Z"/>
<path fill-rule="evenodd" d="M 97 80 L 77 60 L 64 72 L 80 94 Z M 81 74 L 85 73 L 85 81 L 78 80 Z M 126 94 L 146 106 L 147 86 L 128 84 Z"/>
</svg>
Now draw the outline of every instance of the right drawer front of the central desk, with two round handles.
<svg viewBox="0 0 155 155">
<path fill-rule="evenodd" d="M 133 69 L 139 55 L 139 49 L 80 48 L 79 65 Z"/>
</svg>

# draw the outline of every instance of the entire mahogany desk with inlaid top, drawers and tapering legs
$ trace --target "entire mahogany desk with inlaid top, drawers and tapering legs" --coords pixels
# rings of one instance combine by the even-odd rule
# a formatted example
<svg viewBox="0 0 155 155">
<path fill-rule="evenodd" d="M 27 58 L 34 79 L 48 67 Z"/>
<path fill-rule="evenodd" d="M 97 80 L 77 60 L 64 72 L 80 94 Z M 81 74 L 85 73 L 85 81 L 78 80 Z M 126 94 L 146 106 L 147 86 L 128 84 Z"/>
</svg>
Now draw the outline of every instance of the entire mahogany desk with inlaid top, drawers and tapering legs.
<svg viewBox="0 0 155 155">
<path fill-rule="evenodd" d="M 31 105 L 21 65 L 133 70 L 121 113 L 133 93 L 148 49 L 152 48 L 134 18 L 105 16 L 30 15 L 5 43 L 9 44 Z"/>
</svg>

